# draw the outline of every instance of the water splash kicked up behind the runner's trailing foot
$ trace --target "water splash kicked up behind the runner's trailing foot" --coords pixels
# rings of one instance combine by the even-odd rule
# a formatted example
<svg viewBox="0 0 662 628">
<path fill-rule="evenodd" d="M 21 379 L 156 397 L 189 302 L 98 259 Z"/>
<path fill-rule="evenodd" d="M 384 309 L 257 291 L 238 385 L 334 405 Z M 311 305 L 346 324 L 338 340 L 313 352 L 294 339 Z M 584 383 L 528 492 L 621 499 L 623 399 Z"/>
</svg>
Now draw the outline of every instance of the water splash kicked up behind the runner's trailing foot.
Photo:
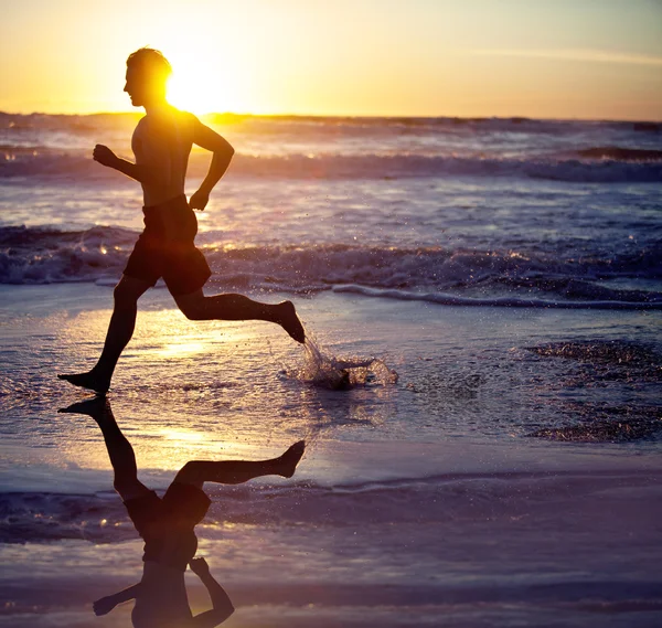
<svg viewBox="0 0 662 628">
<path fill-rule="evenodd" d="M 300 381 L 341 391 L 370 384 L 385 386 L 397 382 L 397 373 L 378 358 L 337 358 L 309 333 L 306 334 L 305 349 L 303 366 L 293 373 Z"/>
</svg>

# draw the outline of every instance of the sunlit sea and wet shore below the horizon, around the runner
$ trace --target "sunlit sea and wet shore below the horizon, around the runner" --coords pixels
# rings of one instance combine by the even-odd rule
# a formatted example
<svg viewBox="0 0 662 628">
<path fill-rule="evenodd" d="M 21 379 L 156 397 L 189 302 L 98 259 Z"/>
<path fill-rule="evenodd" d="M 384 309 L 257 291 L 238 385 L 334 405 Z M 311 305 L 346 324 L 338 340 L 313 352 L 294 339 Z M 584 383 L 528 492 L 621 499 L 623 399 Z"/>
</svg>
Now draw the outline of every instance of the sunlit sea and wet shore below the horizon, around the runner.
<svg viewBox="0 0 662 628">
<path fill-rule="evenodd" d="M 139 118 L 0 113 L 0 627 L 130 625 L 90 605 L 141 542 L 55 374 L 95 363 L 142 227 L 92 159 Z M 236 150 L 205 294 L 290 299 L 307 343 L 159 283 L 108 398 L 159 491 L 307 440 L 290 480 L 205 485 L 227 625 L 662 625 L 662 124 L 202 120 Z"/>
</svg>

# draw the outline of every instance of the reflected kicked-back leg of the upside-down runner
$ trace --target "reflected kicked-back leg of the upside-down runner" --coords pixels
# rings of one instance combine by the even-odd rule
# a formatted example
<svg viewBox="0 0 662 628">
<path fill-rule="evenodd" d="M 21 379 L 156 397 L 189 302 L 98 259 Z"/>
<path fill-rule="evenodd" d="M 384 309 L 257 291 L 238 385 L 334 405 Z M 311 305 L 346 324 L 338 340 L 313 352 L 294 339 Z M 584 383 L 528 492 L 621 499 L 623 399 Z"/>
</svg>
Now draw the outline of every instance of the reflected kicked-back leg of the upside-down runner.
<svg viewBox="0 0 662 628">
<path fill-rule="evenodd" d="M 241 485 L 264 476 L 291 478 L 303 456 L 306 443 L 295 443 L 282 456 L 269 460 L 192 460 L 186 462 L 174 478 L 175 482 L 202 488 L 204 482 L 221 485 Z"/>
</svg>

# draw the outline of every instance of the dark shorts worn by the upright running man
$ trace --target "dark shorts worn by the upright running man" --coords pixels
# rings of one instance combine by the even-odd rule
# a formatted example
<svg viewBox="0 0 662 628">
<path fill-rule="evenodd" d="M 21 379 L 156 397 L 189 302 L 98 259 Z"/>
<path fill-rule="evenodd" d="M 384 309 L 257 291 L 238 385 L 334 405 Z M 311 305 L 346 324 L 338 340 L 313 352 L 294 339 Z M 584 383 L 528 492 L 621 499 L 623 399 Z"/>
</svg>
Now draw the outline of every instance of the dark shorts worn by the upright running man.
<svg viewBox="0 0 662 628">
<path fill-rule="evenodd" d="M 174 296 L 202 288 L 211 277 L 204 255 L 193 243 L 197 220 L 182 194 L 170 201 L 142 207 L 145 231 L 140 234 L 124 274 L 154 285 L 163 277 Z"/>
</svg>

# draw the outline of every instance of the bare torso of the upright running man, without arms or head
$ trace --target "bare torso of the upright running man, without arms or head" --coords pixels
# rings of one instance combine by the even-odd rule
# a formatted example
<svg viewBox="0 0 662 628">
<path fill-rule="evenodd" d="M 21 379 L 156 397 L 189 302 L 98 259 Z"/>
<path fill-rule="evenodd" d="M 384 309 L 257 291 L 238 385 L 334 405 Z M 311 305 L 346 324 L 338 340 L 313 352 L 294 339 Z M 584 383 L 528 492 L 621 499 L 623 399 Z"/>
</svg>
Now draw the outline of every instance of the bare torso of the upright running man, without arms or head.
<svg viewBox="0 0 662 628">
<path fill-rule="evenodd" d="M 194 116 L 169 105 L 138 123 L 131 148 L 136 164 L 149 169 L 149 177 L 141 183 L 146 206 L 159 205 L 184 193 L 194 123 Z"/>
</svg>

